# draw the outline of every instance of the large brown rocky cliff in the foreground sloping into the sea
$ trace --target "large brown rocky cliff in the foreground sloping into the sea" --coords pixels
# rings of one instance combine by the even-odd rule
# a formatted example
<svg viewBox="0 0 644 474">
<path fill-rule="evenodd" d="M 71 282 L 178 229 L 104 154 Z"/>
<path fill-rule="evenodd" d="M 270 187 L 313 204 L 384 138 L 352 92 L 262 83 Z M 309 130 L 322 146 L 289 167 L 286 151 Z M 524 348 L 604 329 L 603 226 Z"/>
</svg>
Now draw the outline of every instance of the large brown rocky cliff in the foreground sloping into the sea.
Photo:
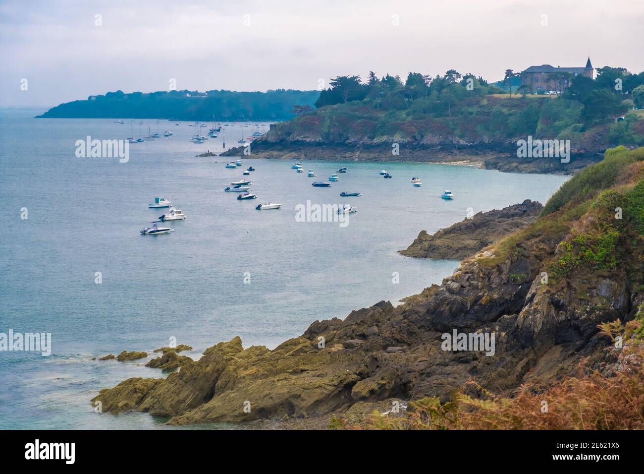
<svg viewBox="0 0 644 474">
<path fill-rule="evenodd" d="M 448 400 L 470 379 L 499 393 L 580 367 L 610 375 L 614 348 L 597 326 L 630 321 L 644 301 L 643 210 L 644 149 L 607 153 L 565 183 L 538 221 L 397 308 L 381 301 L 344 321 L 316 321 L 274 350 L 243 348 L 236 337 L 167 379 L 124 380 L 94 400 L 181 425 L 346 413 L 393 397 Z M 454 330 L 494 335 L 493 351 L 445 350 Z"/>
</svg>

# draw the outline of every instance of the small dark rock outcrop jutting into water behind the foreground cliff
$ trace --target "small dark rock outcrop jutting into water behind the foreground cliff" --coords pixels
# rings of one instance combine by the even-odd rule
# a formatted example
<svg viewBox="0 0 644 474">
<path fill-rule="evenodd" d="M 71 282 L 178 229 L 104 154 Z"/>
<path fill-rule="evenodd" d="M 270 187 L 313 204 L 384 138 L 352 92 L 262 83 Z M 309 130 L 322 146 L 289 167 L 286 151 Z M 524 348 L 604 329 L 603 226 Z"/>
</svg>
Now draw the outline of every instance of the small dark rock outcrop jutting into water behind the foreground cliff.
<svg viewBox="0 0 644 474">
<path fill-rule="evenodd" d="M 502 210 L 479 212 L 433 235 L 421 230 L 406 250 L 398 252 L 406 257 L 462 260 L 535 222 L 542 209 L 539 202 L 526 199 Z"/>
</svg>

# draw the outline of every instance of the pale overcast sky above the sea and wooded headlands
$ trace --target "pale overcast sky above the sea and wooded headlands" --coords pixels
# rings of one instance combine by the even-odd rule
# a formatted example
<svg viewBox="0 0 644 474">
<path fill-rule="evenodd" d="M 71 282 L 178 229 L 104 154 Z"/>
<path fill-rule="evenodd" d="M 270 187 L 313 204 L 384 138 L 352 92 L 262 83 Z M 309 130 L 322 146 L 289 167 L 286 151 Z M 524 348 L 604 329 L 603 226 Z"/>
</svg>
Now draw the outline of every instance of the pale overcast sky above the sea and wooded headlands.
<svg viewBox="0 0 644 474">
<path fill-rule="evenodd" d="M 488 81 L 644 70 L 642 0 L 0 0 L 0 107 L 109 91 L 314 90 L 369 71 Z M 26 81 L 24 81 L 26 79 Z"/>
</svg>

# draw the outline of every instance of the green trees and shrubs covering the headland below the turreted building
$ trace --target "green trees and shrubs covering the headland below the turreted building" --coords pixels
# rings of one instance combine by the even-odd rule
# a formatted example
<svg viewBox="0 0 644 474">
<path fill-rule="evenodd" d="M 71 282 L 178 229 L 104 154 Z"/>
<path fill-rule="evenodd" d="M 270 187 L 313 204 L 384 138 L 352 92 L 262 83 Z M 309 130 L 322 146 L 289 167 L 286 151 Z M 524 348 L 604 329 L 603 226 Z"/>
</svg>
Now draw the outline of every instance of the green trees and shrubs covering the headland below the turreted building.
<svg viewBox="0 0 644 474">
<path fill-rule="evenodd" d="M 570 92 L 556 95 L 500 94 L 496 86 L 455 70 L 431 78 L 410 72 L 401 78 L 370 74 L 337 77 L 316 102 L 278 124 L 269 143 L 413 143 L 420 145 L 512 144 L 535 139 L 570 139 L 574 150 L 603 152 L 619 144 L 644 144 L 644 120 L 630 97 L 644 73 L 620 72 L 631 89 L 615 90 L 610 80 L 620 68 L 600 68 L 597 79 L 574 78 Z M 618 77 L 618 76 L 616 76 Z M 616 121 L 626 114 L 624 120 Z"/>
</svg>

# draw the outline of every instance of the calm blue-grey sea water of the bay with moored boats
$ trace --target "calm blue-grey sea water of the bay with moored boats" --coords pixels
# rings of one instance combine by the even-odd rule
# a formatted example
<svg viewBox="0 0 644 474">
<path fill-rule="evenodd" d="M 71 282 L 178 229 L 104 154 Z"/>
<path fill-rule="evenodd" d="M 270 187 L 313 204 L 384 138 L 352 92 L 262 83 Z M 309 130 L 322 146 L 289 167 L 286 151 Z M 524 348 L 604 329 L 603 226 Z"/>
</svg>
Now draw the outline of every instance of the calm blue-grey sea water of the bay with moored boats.
<svg viewBox="0 0 644 474">
<path fill-rule="evenodd" d="M 468 208 L 545 202 L 565 181 L 439 164 L 305 161 L 304 169 L 317 173 L 308 178 L 290 161 L 246 159 L 229 170 L 225 158 L 195 156 L 222 151 L 221 134 L 193 144 L 196 128 L 168 121 L 136 121 L 135 137 L 148 127 L 175 134 L 131 144 L 129 162 L 118 163 L 75 157 L 75 141 L 129 137 L 127 121 L 8 111 L 1 117 L 0 332 L 52 333 L 53 349 L 50 357 L 0 352 L 0 428 L 164 428 L 164 420 L 148 415 L 115 417 L 90 405 L 100 388 L 161 377 L 159 370 L 144 367 L 146 360 L 91 357 L 149 352 L 170 337 L 193 346 L 187 354 L 193 357 L 235 335 L 244 346 L 274 348 L 316 319 L 344 318 L 383 299 L 395 304 L 440 283 L 459 264 L 398 255 L 420 230 L 461 221 Z M 225 130 L 227 148 L 253 132 L 239 124 Z M 257 200 L 223 192 L 251 165 Z M 310 186 L 340 166 L 348 173 L 331 188 Z M 379 175 L 383 168 L 393 179 Z M 412 176 L 421 177 L 422 188 L 412 187 Z M 453 201 L 440 199 L 445 189 L 455 193 Z M 343 190 L 363 197 L 341 198 Z M 169 224 L 175 228 L 169 235 L 142 236 L 139 230 L 164 212 L 147 208 L 156 196 L 173 201 L 187 219 Z M 350 203 L 358 211 L 346 228 L 296 222 L 295 207 L 307 200 Z M 281 210 L 254 209 L 267 201 Z"/>
</svg>

